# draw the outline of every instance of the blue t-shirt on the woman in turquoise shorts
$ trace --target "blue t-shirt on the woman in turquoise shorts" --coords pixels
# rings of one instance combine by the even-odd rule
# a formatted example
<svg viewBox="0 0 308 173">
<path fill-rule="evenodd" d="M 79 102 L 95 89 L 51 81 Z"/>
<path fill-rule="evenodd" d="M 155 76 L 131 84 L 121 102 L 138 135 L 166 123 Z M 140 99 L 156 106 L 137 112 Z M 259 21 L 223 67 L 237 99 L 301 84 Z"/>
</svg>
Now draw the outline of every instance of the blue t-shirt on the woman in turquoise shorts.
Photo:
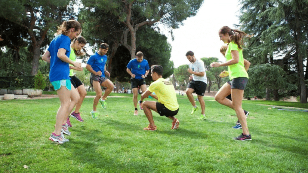
<svg viewBox="0 0 308 173">
<path fill-rule="evenodd" d="M 50 82 L 68 79 L 70 80 L 70 67 L 67 62 L 62 61 L 58 58 L 58 50 L 63 48 L 66 50 L 65 54 L 67 57 L 71 53 L 71 39 L 63 34 L 56 36 L 50 43 L 48 51 L 50 52 L 50 71 L 49 71 L 49 80 Z"/>
</svg>

